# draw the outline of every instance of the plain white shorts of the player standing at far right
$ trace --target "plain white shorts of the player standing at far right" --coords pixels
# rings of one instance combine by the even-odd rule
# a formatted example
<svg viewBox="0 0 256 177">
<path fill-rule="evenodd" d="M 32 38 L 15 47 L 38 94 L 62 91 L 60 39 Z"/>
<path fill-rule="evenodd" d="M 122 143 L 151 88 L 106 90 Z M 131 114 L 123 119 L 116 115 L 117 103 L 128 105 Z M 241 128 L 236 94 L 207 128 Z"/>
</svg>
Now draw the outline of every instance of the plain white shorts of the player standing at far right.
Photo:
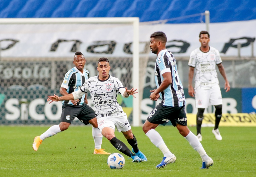
<svg viewBox="0 0 256 177">
<path fill-rule="evenodd" d="M 218 85 L 210 89 L 195 89 L 196 108 L 208 108 L 209 105 L 221 105 L 222 96 Z"/>
</svg>

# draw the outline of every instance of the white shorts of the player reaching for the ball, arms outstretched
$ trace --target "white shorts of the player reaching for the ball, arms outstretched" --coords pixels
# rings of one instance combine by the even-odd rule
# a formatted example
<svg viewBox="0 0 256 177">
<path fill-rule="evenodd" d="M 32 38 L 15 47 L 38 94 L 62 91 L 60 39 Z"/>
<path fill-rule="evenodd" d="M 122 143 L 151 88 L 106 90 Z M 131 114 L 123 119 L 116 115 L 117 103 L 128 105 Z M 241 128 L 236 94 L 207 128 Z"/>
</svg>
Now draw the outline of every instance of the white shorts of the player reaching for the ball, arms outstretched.
<svg viewBox="0 0 256 177">
<path fill-rule="evenodd" d="M 125 112 L 114 116 L 100 117 L 97 119 L 97 123 L 100 132 L 104 127 L 113 128 L 114 131 L 116 127 L 117 131 L 119 132 L 131 130 L 131 125 L 127 119 L 127 115 L 125 114 Z"/>
</svg>

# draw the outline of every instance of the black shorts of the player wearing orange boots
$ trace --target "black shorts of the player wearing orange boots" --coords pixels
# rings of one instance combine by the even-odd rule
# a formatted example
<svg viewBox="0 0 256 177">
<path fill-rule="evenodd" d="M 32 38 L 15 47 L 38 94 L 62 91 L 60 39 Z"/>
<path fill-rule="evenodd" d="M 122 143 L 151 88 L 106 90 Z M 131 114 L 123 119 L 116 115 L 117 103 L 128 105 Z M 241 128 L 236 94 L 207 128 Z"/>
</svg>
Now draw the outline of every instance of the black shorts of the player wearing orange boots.
<svg viewBox="0 0 256 177">
<path fill-rule="evenodd" d="M 96 116 L 94 110 L 87 104 L 79 107 L 70 104 L 64 104 L 62 106 L 60 121 L 71 124 L 75 117 L 77 117 L 79 120 L 81 120 L 82 123 L 87 125 L 89 124 L 89 121 Z"/>
</svg>

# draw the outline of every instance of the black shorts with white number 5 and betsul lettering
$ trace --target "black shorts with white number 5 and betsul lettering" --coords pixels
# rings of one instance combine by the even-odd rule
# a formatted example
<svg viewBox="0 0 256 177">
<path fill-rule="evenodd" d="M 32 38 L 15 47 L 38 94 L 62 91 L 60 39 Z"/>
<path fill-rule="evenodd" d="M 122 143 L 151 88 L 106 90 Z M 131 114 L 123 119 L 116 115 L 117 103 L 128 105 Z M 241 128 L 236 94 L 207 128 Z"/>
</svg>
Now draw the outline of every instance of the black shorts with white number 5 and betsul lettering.
<svg viewBox="0 0 256 177">
<path fill-rule="evenodd" d="M 169 120 L 172 125 L 176 127 L 176 124 L 187 125 L 187 115 L 185 112 L 185 106 L 171 107 L 165 106 L 163 103 L 157 105 L 153 111 L 147 117 L 147 121 L 153 124 L 166 125 Z"/>
</svg>

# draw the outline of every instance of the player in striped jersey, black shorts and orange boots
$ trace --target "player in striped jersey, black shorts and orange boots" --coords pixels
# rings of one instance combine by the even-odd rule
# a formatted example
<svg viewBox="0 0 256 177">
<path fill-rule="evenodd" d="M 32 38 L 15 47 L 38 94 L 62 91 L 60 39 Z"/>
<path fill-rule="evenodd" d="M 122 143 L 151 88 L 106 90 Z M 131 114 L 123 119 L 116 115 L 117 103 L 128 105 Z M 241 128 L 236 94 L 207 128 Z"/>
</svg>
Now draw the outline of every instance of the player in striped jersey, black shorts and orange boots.
<svg viewBox="0 0 256 177">
<path fill-rule="evenodd" d="M 84 82 L 88 79 L 89 72 L 84 69 L 85 57 L 81 52 L 76 52 L 73 58 L 73 64 L 75 67 L 70 69 L 64 76 L 64 80 L 60 87 L 61 95 L 68 95 L 73 91 L 77 91 L 81 88 Z M 33 149 L 38 150 L 42 141 L 48 137 L 54 136 L 64 130 L 67 130 L 72 121 L 77 117 L 85 125 L 92 125 L 92 137 L 94 139 L 94 154 L 110 154 L 101 149 L 102 134 L 98 129 L 97 119 L 95 112 L 91 107 L 87 105 L 88 101 L 86 94 L 75 100 L 63 101 L 62 112 L 59 125 L 51 126 L 41 136 L 36 136 L 33 142 Z"/>
</svg>

